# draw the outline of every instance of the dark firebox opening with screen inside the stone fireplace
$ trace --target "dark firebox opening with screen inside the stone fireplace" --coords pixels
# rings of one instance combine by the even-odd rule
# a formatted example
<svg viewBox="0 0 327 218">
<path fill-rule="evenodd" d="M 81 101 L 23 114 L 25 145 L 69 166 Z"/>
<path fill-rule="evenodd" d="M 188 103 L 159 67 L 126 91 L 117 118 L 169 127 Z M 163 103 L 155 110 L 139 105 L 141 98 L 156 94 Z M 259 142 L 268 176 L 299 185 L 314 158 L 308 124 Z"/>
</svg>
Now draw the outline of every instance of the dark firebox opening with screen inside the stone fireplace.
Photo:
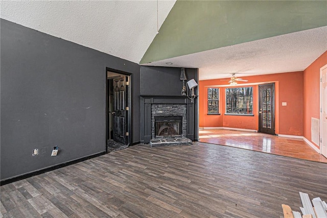
<svg viewBox="0 0 327 218">
<path fill-rule="evenodd" d="M 155 136 L 180 136 L 182 134 L 182 116 L 155 116 Z"/>
</svg>

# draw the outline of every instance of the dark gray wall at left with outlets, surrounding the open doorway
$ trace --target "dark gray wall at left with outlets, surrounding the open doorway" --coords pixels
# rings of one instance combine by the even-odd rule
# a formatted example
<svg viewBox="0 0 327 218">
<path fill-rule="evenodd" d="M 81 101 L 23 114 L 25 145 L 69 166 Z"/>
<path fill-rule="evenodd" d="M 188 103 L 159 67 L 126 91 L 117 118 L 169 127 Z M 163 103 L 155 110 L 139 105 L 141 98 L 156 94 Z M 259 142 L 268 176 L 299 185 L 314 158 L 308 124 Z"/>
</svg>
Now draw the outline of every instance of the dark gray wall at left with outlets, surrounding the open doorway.
<svg viewBox="0 0 327 218">
<path fill-rule="evenodd" d="M 132 142 L 140 141 L 138 64 L 4 19 L 0 26 L 1 181 L 105 151 L 105 67 L 132 74 Z"/>
</svg>

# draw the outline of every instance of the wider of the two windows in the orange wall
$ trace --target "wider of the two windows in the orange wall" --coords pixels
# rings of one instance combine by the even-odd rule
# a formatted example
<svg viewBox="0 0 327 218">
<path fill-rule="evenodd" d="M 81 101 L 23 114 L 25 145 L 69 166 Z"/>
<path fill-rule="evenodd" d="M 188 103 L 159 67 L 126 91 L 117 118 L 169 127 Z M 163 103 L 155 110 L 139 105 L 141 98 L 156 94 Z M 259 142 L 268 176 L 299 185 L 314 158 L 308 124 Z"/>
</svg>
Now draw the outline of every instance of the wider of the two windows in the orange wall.
<svg viewBox="0 0 327 218">
<path fill-rule="evenodd" d="M 237 96 L 239 98 L 239 96 L 242 96 L 243 97 L 243 102 L 240 102 L 240 101 L 237 101 L 235 104 L 236 106 L 238 106 L 240 103 L 242 105 L 247 105 L 247 103 L 249 103 L 248 107 L 243 107 L 243 108 L 238 108 L 238 107 L 230 107 L 229 110 L 233 111 L 233 109 L 236 109 L 236 110 L 244 110 L 244 111 L 250 111 L 251 113 L 227 113 L 227 104 L 228 102 L 231 102 L 232 100 L 228 101 L 227 98 L 228 98 L 228 95 L 227 95 L 227 89 L 229 89 L 229 93 L 231 93 L 231 89 L 244 89 L 244 93 L 246 92 L 245 89 L 246 88 L 251 88 L 251 91 L 249 91 L 250 93 L 249 94 L 239 94 L 241 90 L 238 90 L 236 92 L 233 92 L 233 93 L 237 93 Z M 226 88 L 225 89 L 225 113 L 224 115 L 235 115 L 235 116 L 254 116 L 253 114 L 253 90 L 254 90 L 254 87 L 253 86 L 244 86 L 244 87 L 229 87 L 229 88 Z M 232 93 L 232 94 L 233 94 Z M 232 98 L 232 96 L 231 96 Z M 245 98 L 250 98 L 249 100 L 245 101 Z M 239 103 L 240 102 L 240 103 Z"/>
</svg>

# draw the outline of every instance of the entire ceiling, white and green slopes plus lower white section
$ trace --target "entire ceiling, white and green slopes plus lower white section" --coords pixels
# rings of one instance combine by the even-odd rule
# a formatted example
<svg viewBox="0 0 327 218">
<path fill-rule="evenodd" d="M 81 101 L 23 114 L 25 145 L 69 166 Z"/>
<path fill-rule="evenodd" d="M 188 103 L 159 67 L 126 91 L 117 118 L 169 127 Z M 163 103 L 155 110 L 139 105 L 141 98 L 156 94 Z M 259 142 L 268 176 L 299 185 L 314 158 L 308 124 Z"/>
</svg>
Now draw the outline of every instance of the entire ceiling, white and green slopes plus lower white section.
<svg viewBox="0 0 327 218">
<path fill-rule="evenodd" d="M 326 1 L 2 1 L 1 18 L 200 80 L 300 71 L 327 51 Z"/>
</svg>

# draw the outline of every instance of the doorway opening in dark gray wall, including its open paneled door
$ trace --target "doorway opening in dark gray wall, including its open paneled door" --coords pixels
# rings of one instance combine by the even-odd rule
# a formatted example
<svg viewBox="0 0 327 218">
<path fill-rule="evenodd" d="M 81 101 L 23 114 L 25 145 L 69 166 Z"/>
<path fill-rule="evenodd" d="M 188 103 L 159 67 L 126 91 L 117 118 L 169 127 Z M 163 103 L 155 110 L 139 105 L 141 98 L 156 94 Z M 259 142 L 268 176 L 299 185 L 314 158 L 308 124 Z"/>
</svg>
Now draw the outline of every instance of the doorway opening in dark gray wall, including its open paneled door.
<svg viewBox="0 0 327 218">
<path fill-rule="evenodd" d="M 106 152 L 131 143 L 131 74 L 106 68 Z"/>
</svg>

